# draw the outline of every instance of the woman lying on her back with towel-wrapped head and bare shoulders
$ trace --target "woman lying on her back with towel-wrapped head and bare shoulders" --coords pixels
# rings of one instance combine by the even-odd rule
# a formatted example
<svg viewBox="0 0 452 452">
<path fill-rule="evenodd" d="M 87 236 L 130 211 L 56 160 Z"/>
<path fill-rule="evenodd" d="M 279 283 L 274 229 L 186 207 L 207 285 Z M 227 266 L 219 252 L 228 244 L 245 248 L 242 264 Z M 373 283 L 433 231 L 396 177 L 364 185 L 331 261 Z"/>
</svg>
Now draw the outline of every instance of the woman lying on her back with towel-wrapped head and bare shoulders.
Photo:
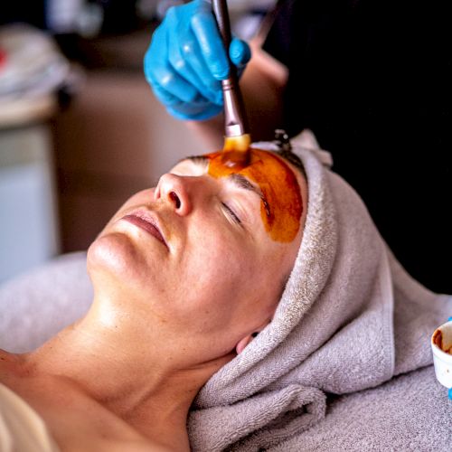
<svg viewBox="0 0 452 452">
<path fill-rule="evenodd" d="M 0 353 L 1 450 L 265 449 L 324 418 L 325 393 L 431 363 L 450 301 L 400 268 L 325 152 L 223 157 L 132 196 L 89 247 L 89 312 Z"/>
</svg>

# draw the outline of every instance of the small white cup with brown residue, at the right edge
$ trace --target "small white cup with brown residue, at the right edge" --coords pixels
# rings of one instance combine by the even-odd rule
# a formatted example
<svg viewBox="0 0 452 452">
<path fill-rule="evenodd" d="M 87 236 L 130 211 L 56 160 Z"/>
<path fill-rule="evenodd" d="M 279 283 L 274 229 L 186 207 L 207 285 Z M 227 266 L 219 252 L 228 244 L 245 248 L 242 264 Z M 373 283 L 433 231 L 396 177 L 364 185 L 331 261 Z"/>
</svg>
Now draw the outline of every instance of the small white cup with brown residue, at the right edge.
<svg viewBox="0 0 452 452">
<path fill-rule="evenodd" d="M 437 380 L 446 388 L 452 388 L 452 321 L 438 326 L 432 334 L 431 350 Z"/>
</svg>

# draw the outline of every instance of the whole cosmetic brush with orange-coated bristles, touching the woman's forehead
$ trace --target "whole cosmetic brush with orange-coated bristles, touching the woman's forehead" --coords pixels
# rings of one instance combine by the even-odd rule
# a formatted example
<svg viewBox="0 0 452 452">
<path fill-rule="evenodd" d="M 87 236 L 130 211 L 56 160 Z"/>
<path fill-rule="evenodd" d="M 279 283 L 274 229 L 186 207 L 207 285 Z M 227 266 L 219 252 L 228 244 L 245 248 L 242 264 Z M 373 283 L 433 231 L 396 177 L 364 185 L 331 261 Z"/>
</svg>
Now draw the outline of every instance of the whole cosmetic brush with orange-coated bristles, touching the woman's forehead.
<svg viewBox="0 0 452 452">
<path fill-rule="evenodd" d="M 225 165 L 248 165 L 250 161 L 251 137 L 245 107 L 239 87 L 235 66 L 229 57 L 231 44 L 231 24 L 226 0 L 212 0 L 212 9 L 220 30 L 221 39 L 229 61 L 230 72 L 226 80 L 221 80 L 224 102 L 224 151 L 228 154 Z"/>
</svg>

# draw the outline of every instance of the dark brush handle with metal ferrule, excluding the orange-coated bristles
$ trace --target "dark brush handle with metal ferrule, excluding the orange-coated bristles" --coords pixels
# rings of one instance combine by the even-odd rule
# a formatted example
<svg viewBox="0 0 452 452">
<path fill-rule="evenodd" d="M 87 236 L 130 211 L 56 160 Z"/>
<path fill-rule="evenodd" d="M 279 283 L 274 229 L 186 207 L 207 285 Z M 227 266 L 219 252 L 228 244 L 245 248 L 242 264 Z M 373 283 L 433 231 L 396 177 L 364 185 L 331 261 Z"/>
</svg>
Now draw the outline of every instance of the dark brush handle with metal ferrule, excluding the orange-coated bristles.
<svg viewBox="0 0 452 452">
<path fill-rule="evenodd" d="M 221 80 L 224 100 L 225 136 L 240 137 L 248 133 L 248 122 L 241 97 L 236 67 L 231 63 L 229 48 L 231 45 L 231 23 L 226 0 L 212 0 L 212 9 L 220 30 L 221 39 L 229 61 L 230 73 Z"/>
</svg>

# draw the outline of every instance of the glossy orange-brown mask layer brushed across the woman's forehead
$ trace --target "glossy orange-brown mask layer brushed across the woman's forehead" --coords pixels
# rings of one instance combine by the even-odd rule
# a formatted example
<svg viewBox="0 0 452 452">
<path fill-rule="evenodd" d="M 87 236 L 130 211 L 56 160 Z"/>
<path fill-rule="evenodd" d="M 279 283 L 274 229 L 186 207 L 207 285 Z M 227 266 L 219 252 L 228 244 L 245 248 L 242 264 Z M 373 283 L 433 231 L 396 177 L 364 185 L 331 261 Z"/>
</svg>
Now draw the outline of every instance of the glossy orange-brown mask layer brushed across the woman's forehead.
<svg viewBox="0 0 452 452">
<path fill-rule="evenodd" d="M 289 166 L 268 151 L 250 148 L 247 159 L 237 158 L 237 151 L 220 151 L 207 155 L 208 173 L 220 178 L 242 174 L 259 185 L 267 200 L 260 203 L 260 216 L 272 240 L 288 242 L 295 239 L 303 212 L 297 177 Z"/>
</svg>

